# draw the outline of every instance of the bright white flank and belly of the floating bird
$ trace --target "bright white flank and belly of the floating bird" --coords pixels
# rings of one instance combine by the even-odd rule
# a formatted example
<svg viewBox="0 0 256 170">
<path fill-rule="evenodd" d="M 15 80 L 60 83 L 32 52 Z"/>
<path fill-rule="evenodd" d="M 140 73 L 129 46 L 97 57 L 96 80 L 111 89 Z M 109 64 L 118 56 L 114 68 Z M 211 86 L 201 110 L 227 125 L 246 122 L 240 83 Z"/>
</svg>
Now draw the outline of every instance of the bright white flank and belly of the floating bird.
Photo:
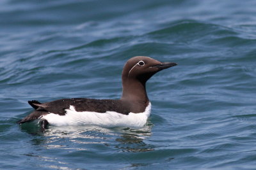
<svg viewBox="0 0 256 170">
<path fill-rule="evenodd" d="M 97 125 L 100 127 L 134 127 L 140 128 L 146 124 L 147 118 L 150 116 L 151 104 L 149 103 L 143 113 L 129 113 L 123 115 L 115 111 L 107 111 L 106 113 L 97 113 L 94 111 L 76 111 L 74 106 L 70 106 L 66 110 L 65 116 L 49 113 L 42 117 L 49 122 L 50 125 Z"/>
</svg>

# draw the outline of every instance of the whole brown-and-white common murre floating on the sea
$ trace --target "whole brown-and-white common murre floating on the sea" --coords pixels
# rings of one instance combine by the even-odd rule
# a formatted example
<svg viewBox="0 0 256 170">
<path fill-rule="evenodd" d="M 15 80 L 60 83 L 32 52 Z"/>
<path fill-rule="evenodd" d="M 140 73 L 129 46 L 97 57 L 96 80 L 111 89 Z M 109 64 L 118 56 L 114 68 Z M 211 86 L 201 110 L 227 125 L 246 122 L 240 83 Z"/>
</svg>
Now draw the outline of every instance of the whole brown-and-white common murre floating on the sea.
<svg viewBox="0 0 256 170">
<path fill-rule="evenodd" d="M 158 71 L 176 65 L 174 62 L 159 62 L 150 57 L 132 57 L 122 71 L 123 92 L 120 99 L 72 98 L 48 103 L 28 101 L 35 111 L 17 124 L 37 119 L 42 129 L 49 124 L 143 127 L 151 110 L 145 86 L 147 80 Z"/>
</svg>

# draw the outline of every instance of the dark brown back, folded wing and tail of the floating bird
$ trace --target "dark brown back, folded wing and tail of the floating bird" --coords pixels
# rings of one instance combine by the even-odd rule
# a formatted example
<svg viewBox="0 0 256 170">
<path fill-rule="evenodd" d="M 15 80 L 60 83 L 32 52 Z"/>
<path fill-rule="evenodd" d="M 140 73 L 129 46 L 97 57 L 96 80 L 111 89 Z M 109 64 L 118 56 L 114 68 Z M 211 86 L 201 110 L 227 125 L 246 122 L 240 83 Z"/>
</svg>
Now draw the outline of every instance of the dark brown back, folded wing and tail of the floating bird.
<svg viewBox="0 0 256 170">
<path fill-rule="evenodd" d="M 60 99 L 57 101 L 51 101 L 49 103 L 40 103 L 38 101 L 28 101 L 28 103 L 35 109 L 27 117 L 19 120 L 17 124 L 23 124 L 35 119 L 47 115 L 49 113 L 55 113 L 58 115 L 65 115 L 70 106 L 74 106 L 76 111 L 95 111 L 98 113 L 106 113 L 106 111 L 116 111 L 124 115 L 128 115 L 129 104 L 120 100 L 111 99 L 86 99 L 86 98 L 72 98 L 72 99 Z"/>
</svg>

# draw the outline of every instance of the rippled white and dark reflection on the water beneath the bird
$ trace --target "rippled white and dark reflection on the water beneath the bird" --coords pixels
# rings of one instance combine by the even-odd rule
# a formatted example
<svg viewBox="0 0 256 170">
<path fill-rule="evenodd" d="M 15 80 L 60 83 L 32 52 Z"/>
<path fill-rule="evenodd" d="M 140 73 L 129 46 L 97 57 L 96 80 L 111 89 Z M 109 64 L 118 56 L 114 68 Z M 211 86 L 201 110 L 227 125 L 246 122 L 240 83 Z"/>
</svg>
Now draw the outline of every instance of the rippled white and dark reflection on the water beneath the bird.
<svg viewBox="0 0 256 170">
<path fill-rule="evenodd" d="M 151 136 L 152 124 L 148 123 L 141 129 L 131 128 L 104 128 L 97 126 L 67 126 L 49 127 L 44 132 L 40 126 L 22 126 L 22 131 L 28 132 L 40 138 L 33 139 L 33 145 L 42 145 L 47 149 L 60 148 L 65 150 L 93 150 L 95 147 L 115 148 L 119 152 L 148 152 L 154 150 L 153 145 L 145 143 L 145 139 Z M 37 142 L 35 142 L 37 141 Z M 72 147 L 71 147 L 72 146 Z"/>
</svg>

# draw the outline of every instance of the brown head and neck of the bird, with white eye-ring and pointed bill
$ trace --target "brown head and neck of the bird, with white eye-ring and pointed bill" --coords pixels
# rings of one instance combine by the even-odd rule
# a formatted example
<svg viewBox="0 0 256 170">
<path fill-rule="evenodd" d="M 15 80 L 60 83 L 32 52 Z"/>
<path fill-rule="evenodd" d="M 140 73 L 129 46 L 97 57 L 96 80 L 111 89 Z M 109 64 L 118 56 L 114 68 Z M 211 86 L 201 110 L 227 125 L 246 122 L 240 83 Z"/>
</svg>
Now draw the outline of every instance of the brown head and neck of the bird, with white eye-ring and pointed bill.
<svg viewBox="0 0 256 170">
<path fill-rule="evenodd" d="M 122 72 L 122 99 L 148 103 L 145 84 L 157 72 L 176 66 L 174 62 L 159 62 L 150 57 L 137 56 L 129 59 Z"/>
</svg>

